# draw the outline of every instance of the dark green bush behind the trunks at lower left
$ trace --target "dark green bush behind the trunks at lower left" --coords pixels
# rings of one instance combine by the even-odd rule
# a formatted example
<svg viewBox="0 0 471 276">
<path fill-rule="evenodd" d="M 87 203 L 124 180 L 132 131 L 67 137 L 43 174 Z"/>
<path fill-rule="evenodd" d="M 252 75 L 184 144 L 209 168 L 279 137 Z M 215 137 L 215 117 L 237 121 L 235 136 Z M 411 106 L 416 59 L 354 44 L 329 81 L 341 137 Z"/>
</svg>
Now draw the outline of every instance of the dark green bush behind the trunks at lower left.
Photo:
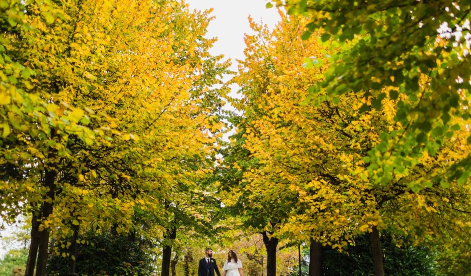
<svg viewBox="0 0 471 276">
<path fill-rule="evenodd" d="M 106 232 L 88 232 L 79 238 L 84 241 L 76 257 L 79 274 L 151 275 L 155 270 L 150 243 L 144 239 L 132 242 L 126 236 Z M 71 257 L 67 257 L 66 249 L 49 258 L 48 274 L 67 275 Z"/>
</svg>

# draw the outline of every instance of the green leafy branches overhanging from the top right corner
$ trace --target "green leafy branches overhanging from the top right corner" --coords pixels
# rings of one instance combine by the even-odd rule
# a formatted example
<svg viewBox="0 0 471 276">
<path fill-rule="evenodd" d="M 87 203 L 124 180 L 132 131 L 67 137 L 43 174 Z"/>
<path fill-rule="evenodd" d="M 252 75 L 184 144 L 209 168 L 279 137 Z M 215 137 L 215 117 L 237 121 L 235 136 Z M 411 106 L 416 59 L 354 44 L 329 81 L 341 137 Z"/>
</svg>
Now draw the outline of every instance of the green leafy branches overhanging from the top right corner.
<svg viewBox="0 0 471 276">
<path fill-rule="evenodd" d="M 321 32 L 322 41 L 331 39 L 338 47 L 329 57 L 332 66 L 311 86 L 306 103 L 319 105 L 323 92 L 337 100 L 353 92 L 367 100 L 361 111 L 393 102 L 394 120 L 404 131 L 381 130 L 381 143 L 371 149 L 368 166 L 376 183 L 410 169 L 417 158 L 434 155 L 445 139 L 467 137 L 471 142 L 469 133 L 460 137 L 456 132 L 465 129 L 456 121 L 469 119 L 468 1 L 273 2 L 289 14 L 309 17 L 303 39 Z M 410 186 L 415 191 L 432 182 L 446 186 L 444 177 L 462 184 L 469 178 L 470 158 L 463 156 L 444 172 Z"/>
</svg>

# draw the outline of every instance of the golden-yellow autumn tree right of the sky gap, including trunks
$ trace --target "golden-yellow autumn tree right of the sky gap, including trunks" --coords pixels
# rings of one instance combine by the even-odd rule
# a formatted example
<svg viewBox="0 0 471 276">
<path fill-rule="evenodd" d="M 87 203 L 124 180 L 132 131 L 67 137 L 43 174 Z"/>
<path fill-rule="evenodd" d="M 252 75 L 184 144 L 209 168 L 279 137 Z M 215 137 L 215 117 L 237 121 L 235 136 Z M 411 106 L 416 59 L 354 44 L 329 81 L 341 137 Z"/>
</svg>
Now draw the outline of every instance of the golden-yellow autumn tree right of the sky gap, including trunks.
<svg viewBox="0 0 471 276">
<path fill-rule="evenodd" d="M 383 147 L 381 158 L 386 160 L 392 148 L 388 144 L 402 143 L 401 136 L 410 134 L 406 125 L 395 121 L 395 101 L 379 99 L 380 108 L 362 110 L 378 98 L 345 93 L 332 101 L 319 92 L 309 99 L 314 104 L 303 103 L 310 87 L 322 80 L 328 62 L 341 64 L 341 60 L 329 59 L 341 49 L 335 42 L 322 43 L 321 33 L 302 40 L 307 23 L 303 17 L 284 16 L 274 32 L 251 23 L 257 34 L 246 37 L 246 59 L 237 81 L 245 95 L 239 103 L 245 110 L 239 143 L 255 165 L 245 170 L 241 192 L 235 196 L 246 200 L 246 210 L 261 206 L 267 209 L 262 216 L 278 218 L 276 227 L 273 218 L 259 227 L 278 237 L 311 239 L 317 256 L 322 246 L 343 247 L 353 236 L 370 232 L 377 275 L 382 270 L 381 230 L 410 235 L 417 243 L 462 240 L 458 225 L 469 222 L 468 213 L 466 208 L 455 210 L 449 202 L 462 206 L 469 196 L 468 183 L 440 185 L 435 179 L 464 158 L 468 146 L 459 137 L 438 131 L 444 143 L 433 153 L 416 155 L 413 164 L 404 167 L 392 163 L 378 167 L 393 170 L 387 172 L 389 178 L 378 181 L 376 173 L 366 170 L 368 165 L 375 166 L 370 150 Z M 424 86 L 425 80 L 424 76 Z M 393 88 L 385 92 L 397 93 Z M 456 123 L 454 130 L 467 131 L 468 122 Z M 385 130 L 397 133 L 386 143 L 380 135 Z M 427 183 L 428 188 L 415 193 L 416 183 Z M 447 186 L 449 193 L 444 189 Z M 257 216 L 246 215 L 247 220 Z M 465 229 L 468 233 L 469 226 Z M 319 274 L 319 259 L 311 262 L 317 264 L 312 269 Z"/>
</svg>

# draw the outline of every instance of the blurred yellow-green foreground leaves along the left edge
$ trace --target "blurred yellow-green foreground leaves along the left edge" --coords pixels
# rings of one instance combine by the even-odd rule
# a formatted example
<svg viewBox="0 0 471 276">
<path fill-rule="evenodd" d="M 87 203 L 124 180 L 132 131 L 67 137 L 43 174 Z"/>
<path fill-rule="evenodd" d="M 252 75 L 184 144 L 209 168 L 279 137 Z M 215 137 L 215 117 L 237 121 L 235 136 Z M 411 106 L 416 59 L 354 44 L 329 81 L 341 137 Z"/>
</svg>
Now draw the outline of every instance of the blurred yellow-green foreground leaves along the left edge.
<svg viewBox="0 0 471 276">
<path fill-rule="evenodd" d="M 0 112 L 3 126 L 0 200 L 4 206 L 2 218 L 6 222 L 13 222 L 21 213 L 26 206 L 22 205 L 24 200 L 35 205 L 36 200 L 44 196 L 47 188 L 37 185 L 40 171 L 60 166 L 59 160 L 77 161 L 71 155 L 69 141 L 91 145 L 96 137 L 108 136 L 105 129 L 93 131 L 87 127 L 87 122 L 97 120 L 107 126 L 108 119 L 101 113 L 84 112 L 67 102 L 53 101 L 48 97 L 51 91 L 38 84 L 44 78 L 43 66 L 35 63 L 37 60 L 31 56 L 38 43 L 32 38 L 43 35 L 41 29 L 51 21 L 51 7 L 45 3 L 36 10 L 32 8 L 36 15 L 28 15 L 24 13 L 24 4 L 22 1 L 0 2 L 0 104 L 3 106 Z M 45 164 L 43 159 L 49 151 L 54 152 L 55 158 L 51 156 L 53 160 Z"/>
</svg>

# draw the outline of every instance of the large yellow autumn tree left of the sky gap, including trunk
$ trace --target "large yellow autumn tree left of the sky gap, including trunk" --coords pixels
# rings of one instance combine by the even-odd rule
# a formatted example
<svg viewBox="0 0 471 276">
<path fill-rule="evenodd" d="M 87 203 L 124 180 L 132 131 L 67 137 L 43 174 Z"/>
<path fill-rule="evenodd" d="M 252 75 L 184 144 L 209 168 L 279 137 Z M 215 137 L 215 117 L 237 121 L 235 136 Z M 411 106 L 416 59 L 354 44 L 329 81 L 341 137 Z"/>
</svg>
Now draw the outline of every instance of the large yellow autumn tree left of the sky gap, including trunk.
<svg viewBox="0 0 471 276">
<path fill-rule="evenodd" d="M 12 201 L 25 203 L 16 210 L 33 214 L 27 274 L 35 263 L 45 273 L 51 231 L 62 239 L 78 225 L 135 233 L 136 221 L 150 218 L 172 229 L 168 206 L 210 174 L 223 126 L 216 110 L 225 90 L 212 85 L 228 64 L 208 53 L 208 12 L 177 1 L 6 3 L 16 14 L 4 18 L 14 30 L 2 45 L 31 68 L 18 83 L 66 125 L 34 136 L 21 125 L 4 130 L 15 143 L 3 156 L 21 157 L 7 164 L 27 172 L 4 182 Z M 70 133 L 75 124 L 86 135 Z"/>
</svg>

